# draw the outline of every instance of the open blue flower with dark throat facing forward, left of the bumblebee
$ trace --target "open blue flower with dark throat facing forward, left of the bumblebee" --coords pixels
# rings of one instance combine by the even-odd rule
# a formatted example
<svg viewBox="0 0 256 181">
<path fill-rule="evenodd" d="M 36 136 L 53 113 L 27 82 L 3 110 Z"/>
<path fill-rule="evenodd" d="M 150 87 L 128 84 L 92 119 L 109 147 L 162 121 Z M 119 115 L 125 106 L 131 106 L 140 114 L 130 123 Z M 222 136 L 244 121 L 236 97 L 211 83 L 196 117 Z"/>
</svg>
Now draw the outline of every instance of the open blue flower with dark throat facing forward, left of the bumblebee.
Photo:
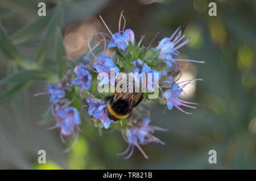
<svg viewBox="0 0 256 181">
<path fill-rule="evenodd" d="M 81 85 L 81 89 L 90 89 L 92 76 L 88 70 L 85 70 L 81 65 L 76 66 L 75 73 L 77 78 L 73 79 L 72 83 L 75 85 Z"/>
</svg>

